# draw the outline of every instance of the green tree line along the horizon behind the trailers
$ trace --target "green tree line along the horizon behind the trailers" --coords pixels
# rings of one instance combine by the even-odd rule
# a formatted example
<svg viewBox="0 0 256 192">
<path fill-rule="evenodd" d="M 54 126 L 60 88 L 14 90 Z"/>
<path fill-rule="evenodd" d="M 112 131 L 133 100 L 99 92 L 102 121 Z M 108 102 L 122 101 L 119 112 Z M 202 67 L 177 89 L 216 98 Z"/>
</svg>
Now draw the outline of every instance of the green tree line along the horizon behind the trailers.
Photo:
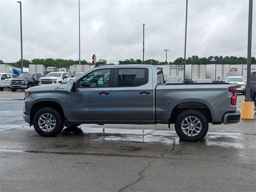
<svg viewBox="0 0 256 192">
<path fill-rule="evenodd" d="M 216 61 L 210 62 L 210 60 L 214 58 Z M 30 60 L 23 60 L 23 66 L 28 67 L 29 64 L 43 64 L 46 67 L 57 67 L 57 68 L 68 68 L 70 65 L 78 64 L 78 60 L 72 60 L 72 59 L 53 59 L 53 58 L 46 58 L 46 59 L 32 59 Z M 5 64 L 2 60 L 0 60 L 0 64 Z M 21 66 L 21 60 L 13 63 L 8 63 L 9 65 L 12 65 L 14 67 L 20 68 Z M 81 60 L 81 64 L 89 64 L 92 65 L 91 62 L 87 62 L 86 60 Z M 99 59 L 97 64 L 107 64 L 106 59 Z M 113 63 L 109 63 L 113 64 Z M 118 61 L 118 64 L 142 64 L 142 60 L 140 59 L 126 59 L 124 61 L 120 60 Z M 173 62 L 166 63 L 165 61 L 158 61 L 154 59 L 148 59 L 144 61 L 144 64 L 150 64 L 150 65 L 164 65 L 164 64 L 178 64 L 182 65 L 184 64 L 184 58 L 179 57 L 176 58 Z M 247 64 L 247 58 L 245 57 L 236 57 L 236 56 L 209 56 L 208 58 L 202 57 L 199 58 L 197 55 L 193 55 L 191 57 L 188 57 L 186 59 L 186 64 Z M 252 64 L 256 64 L 255 57 L 252 57 Z"/>
</svg>

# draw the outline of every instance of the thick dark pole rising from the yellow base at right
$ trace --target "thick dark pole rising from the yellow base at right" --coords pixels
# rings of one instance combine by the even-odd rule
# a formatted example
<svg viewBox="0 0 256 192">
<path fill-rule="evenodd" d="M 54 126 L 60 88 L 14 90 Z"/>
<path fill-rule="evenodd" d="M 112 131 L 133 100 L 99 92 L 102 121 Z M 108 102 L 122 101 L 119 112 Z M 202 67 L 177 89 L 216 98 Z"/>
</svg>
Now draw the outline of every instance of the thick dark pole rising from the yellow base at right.
<svg viewBox="0 0 256 192">
<path fill-rule="evenodd" d="M 247 81 L 246 81 L 246 99 L 250 99 L 250 86 L 251 86 L 251 62 L 252 62 L 252 0 L 249 0 L 249 18 L 248 18 L 248 46 L 247 46 Z"/>
</svg>

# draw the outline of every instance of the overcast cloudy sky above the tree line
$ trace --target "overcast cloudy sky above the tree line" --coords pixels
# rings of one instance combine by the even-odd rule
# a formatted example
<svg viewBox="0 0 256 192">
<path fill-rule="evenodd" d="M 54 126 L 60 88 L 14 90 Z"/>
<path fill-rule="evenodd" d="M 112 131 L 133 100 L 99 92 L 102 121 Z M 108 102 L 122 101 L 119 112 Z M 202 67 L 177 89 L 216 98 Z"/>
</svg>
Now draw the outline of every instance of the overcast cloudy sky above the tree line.
<svg viewBox="0 0 256 192">
<path fill-rule="evenodd" d="M 186 0 L 80 0 L 81 60 L 184 57 Z M 252 56 L 256 56 L 256 2 Z M 23 58 L 78 60 L 78 0 L 22 0 Z M 248 0 L 188 0 L 187 57 L 247 56 Z M 0 0 L 0 59 L 20 59 L 20 9 Z"/>
</svg>

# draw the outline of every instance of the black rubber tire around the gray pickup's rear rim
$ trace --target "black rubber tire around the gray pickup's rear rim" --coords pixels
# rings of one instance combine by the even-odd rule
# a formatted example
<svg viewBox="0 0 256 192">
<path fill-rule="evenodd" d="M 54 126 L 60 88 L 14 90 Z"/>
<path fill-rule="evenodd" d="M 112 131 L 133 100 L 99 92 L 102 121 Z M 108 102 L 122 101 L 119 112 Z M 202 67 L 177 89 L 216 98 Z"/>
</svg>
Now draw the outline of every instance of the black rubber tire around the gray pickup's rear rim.
<svg viewBox="0 0 256 192">
<path fill-rule="evenodd" d="M 185 134 L 182 130 L 182 121 L 185 120 L 187 117 L 189 116 L 193 116 L 193 117 L 196 117 L 198 118 L 198 120 L 200 121 L 195 121 L 197 123 L 201 123 L 202 125 L 202 129 L 201 131 L 197 134 L 197 131 L 198 129 L 197 128 L 192 128 L 189 130 L 189 127 L 188 126 L 185 126 L 185 127 L 188 127 L 188 133 L 191 134 L 192 133 L 192 136 L 190 136 L 189 134 Z M 193 119 L 192 119 L 193 120 Z M 194 119 L 195 120 L 195 119 Z M 190 121 L 190 120 L 188 120 Z M 188 122 L 186 121 L 186 122 Z M 189 122 L 188 122 L 189 124 Z M 192 126 L 192 124 L 191 124 Z M 196 142 L 198 140 L 201 140 L 202 138 L 204 138 L 204 136 L 207 134 L 208 132 L 208 120 L 206 118 L 206 116 L 204 114 L 202 114 L 200 111 L 198 110 L 194 110 L 194 109 L 188 109 L 188 110 L 184 110 L 181 114 L 178 115 L 178 117 L 176 118 L 176 121 L 175 121 L 175 130 L 176 130 L 176 133 L 178 134 L 178 136 L 184 140 L 184 141 L 189 141 L 189 142 Z M 186 132 L 187 129 L 185 129 L 184 131 Z M 193 134 L 196 134 L 193 136 Z"/>
</svg>

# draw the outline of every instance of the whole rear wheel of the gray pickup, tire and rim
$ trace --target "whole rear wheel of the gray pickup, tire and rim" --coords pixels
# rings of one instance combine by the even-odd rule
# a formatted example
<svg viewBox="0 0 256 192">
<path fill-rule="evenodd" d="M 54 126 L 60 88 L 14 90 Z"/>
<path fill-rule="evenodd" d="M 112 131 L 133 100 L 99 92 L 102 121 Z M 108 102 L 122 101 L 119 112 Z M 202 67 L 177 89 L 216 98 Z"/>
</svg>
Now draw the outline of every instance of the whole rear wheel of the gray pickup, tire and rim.
<svg viewBox="0 0 256 192">
<path fill-rule="evenodd" d="M 181 139 L 196 142 L 207 134 L 208 120 L 198 110 L 184 110 L 176 118 L 175 130 Z"/>
</svg>

